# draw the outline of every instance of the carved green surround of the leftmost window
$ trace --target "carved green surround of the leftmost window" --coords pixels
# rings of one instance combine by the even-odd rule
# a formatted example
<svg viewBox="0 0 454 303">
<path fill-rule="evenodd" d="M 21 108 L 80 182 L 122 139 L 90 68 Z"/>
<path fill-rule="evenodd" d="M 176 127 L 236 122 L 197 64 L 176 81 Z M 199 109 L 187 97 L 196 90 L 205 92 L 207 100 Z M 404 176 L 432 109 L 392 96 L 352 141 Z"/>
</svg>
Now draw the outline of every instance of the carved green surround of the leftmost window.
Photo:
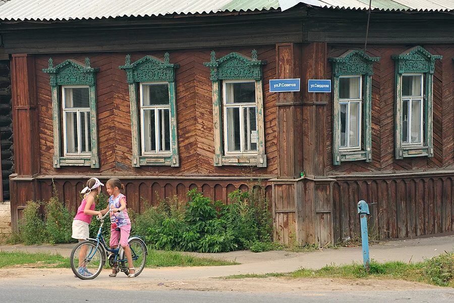
<svg viewBox="0 0 454 303">
<path fill-rule="evenodd" d="M 90 66 L 90 59 L 85 58 L 85 65 L 72 59 L 68 59 L 57 66 L 53 66 L 52 58 L 49 58 L 48 68 L 42 70 L 50 75 L 50 87 L 52 93 L 52 118 L 53 118 L 53 167 L 61 166 L 90 166 L 99 168 L 98 157 L 98 131 L 96 115 L 96 73 L 99 68 Z M 62 86 L 77 85 L 88 86 L 90 100 L 90 131 L 91 131 L 91 155 L 64 156 L 61 138 L 61 115 Z"/>
</svg>

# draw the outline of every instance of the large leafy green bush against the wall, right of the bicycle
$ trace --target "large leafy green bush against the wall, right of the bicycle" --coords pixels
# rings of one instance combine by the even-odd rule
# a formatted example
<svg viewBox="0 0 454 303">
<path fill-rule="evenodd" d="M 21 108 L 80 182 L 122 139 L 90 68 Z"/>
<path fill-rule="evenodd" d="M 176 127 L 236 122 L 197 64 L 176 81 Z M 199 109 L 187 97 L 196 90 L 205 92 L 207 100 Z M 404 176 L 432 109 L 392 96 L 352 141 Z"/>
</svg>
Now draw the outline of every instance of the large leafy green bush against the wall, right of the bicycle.
<svg viewBox="0 0 454 303">
<path fill-rule="evenodd" d="M 232 192 L 231 204 L 227 206 L 219 201 L 213 203 L 193 189 L 188 192 L 186 204 L 174 197 L 156 207 L 147 206 L 140 215 L 132 213 L 133 229 L 155 249 L 200 252 L 249 249 L 258 242 L 271 241 L 271 216 L 259 189 Z"/>
</svg>

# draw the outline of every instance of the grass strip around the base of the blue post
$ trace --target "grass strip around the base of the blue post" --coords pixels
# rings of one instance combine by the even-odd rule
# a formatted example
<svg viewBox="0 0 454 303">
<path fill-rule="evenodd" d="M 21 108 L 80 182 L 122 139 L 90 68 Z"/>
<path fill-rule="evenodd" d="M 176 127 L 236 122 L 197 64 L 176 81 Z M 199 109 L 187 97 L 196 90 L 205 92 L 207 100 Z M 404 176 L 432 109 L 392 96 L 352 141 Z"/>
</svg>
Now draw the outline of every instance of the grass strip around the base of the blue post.
<svg viewBox="0 0 454 303">
<path fill-rule="evenodd" d="M 351 264 L 343 266 L 328 265 L 318 270 L 299 269 L 291 273 L 268 273 L 264 275 L 232 275 L 224 279 L 244 278 L 344 278 L 344 279 L 401 279 L 425 282 L 438 286 L 454 287 L 454 253 L 444 254 L 418 263 L 386 262 L 370 263 L 367 273 L 362 265 Z"/>
</svg>

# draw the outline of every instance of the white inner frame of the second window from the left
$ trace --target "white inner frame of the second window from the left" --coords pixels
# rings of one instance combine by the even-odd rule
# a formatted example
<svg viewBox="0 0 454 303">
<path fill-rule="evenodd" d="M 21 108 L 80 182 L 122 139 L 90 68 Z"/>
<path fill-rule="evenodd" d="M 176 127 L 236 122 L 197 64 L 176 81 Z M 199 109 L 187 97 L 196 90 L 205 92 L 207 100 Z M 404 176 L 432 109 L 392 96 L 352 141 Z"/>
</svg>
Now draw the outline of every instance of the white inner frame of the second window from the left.
<svg viewBox="0 0 454 303">
<path fill-rule="evenodd" d="M 170 91 L 169 91 L 169 101 L 168 105 L 143 105 L 143 86 L 144 85 L 167 85 L 167 89 L 169 87 L 169 83 L 166 81 L 161 82 L 140 82 L 140 100 L 139 100 L 139 107 L 140 107 L 140 140 L 141 140 L 141 152 L 142 156 L 153 156 L 153 155 L 160 155 L 160 156 L 172 156 L 172 127 L 171 127 L 171 105 L 170 105 Z M 156 142 L 156 151 L 145 151 L 145 124 L 144 124 L 144 113 L 145 111 L 152 111 L 154 110 L 154 123 L 156 125 L 154 131 L 154 138 Z M 160 138 L 159 133 L 161 132 L 161 125 L 159 125 L 159 117 L 158 113 L 159 110 L 168 110 L 168 121 L 169 121 L 169 141 L 170 141 L 170 150 L 168 151 L 160 151 Z M 163 138 L 161 138 L 163 139 Z"/>
</svg>

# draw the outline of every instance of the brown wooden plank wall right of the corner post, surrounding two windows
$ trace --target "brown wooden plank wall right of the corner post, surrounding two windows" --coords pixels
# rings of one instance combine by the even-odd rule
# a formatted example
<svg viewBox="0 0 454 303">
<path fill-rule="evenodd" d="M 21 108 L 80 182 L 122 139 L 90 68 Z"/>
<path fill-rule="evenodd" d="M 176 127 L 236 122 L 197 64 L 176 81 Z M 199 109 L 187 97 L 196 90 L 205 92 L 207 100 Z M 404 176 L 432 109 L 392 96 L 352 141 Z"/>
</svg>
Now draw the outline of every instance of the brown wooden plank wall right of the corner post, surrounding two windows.
<svg viewBox="0 0 454 303">
<path fill-rule="evenodd" d="M 422 45 L 443 60 L 435 66 L 433 81 L 434 157 L 394 158 L 394 61 L 391 55 L 408 47 L 370 45 L 368 54 L 381 57 L 372 76 L 372 162 L 332 165 L 332 98 L 326 111 L 326 171 L 332 184 L 334 240 L 359 235 L 357 203 L 370 206 L 369 227 L 380 238 L 414 237 L 454 230 L 453 181 L 443 169 L 454 167 L 454 45 Z M 331 45 L 328 57 L 347 51 Z M 326 68 L 331 78 L 331 66 Z M 424 176 L 424 170 L 438 170 L 439 177 Z M 357 174 L 359 173 L 359 174 Z M 384 177 L 383 173 L 389 173 Z M 400 176 L 400 173 L 412 173 Z M 351 177 L 356 174 L 356 178 Z M 369 174 L 363 177 L 360 174 Z M 381 174 L 381 175 L 380 175 Z M 393 175 L 391 175 L 393 174 Z M 372 176 L 370 176 L 372 175 Z"/>
</svg>

